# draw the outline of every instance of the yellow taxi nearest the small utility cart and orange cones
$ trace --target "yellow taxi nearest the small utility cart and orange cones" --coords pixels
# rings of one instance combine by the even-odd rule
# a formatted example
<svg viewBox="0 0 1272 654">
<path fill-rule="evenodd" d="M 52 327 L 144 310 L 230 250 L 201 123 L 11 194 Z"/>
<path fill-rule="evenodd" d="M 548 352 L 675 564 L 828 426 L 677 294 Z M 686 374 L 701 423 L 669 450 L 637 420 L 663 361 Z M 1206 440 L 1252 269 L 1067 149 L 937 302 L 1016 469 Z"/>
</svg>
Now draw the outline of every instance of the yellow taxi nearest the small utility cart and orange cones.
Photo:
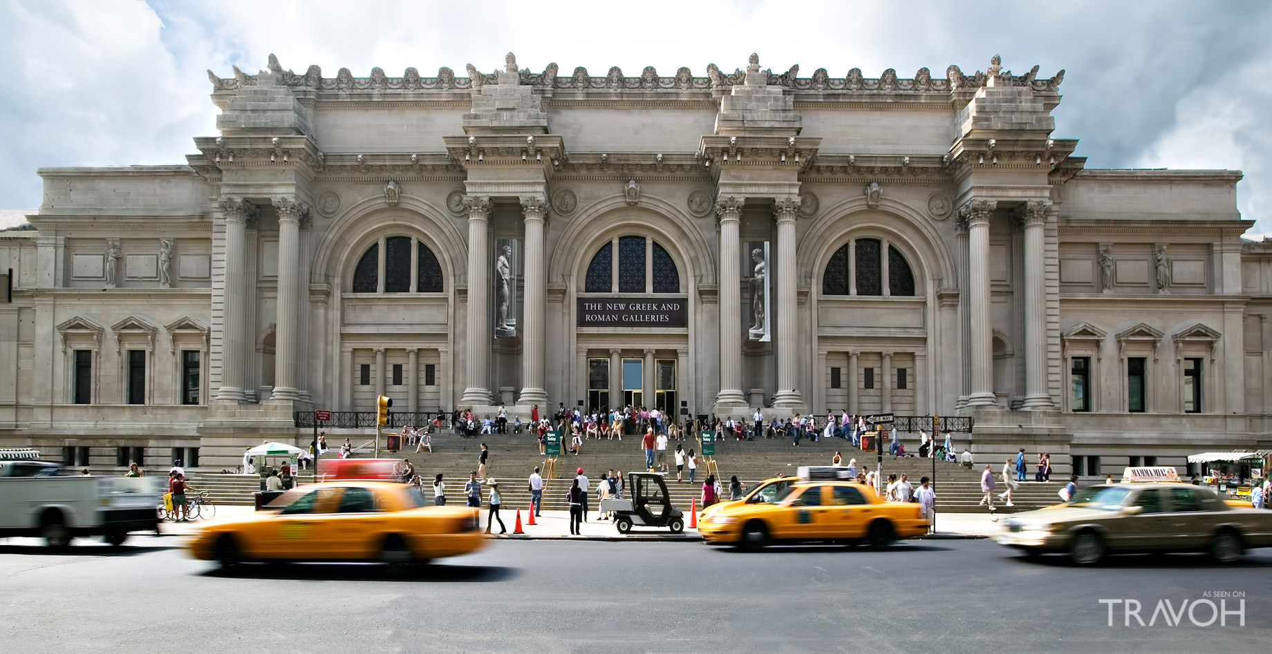
<svg viewBox="0 0 1272 654">
<path fill-rule="evenodd" d="M 758 549 L 771 542 L 841 541 L 887 547 L 927 533 L 918 504 L 883 502 L 862 484 L 798 481 L 770 502 L 739 502 L 698 521 L 707 544 Z"/>
</svg>

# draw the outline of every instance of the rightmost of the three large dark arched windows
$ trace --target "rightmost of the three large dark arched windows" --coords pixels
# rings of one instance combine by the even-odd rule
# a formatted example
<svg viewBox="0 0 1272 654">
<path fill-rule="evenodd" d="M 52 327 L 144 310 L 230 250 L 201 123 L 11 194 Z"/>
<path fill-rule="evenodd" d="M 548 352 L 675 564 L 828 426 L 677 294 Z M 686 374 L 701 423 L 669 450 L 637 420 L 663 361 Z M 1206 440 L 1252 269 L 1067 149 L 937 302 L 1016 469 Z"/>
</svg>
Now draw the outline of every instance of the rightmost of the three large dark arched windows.
<svg viewBox="0 0 1272 654">
<path fill-rule="evenodd" d="M 906 255 L 880 239 L 862 237 L 834 250 L 822 272 L 822 295 L 884 295 L 884 249 L 888 250 L 888 295 L 912 297 L 915 273 Z"/>
</svg>

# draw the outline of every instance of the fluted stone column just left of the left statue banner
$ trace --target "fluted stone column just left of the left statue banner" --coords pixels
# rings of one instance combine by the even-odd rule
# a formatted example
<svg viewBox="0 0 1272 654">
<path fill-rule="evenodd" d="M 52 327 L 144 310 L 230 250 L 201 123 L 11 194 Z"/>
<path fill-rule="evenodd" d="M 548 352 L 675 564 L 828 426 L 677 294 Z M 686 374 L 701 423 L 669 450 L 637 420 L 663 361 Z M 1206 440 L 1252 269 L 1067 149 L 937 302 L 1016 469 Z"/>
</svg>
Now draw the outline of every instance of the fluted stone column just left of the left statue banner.
<svg viewBox="0 0 1272 654">
<path fill-rule="evenodd" d="M 468 207 L 468 387 L 459 403 L 491 404 L 490 396 L 490 198 L 464 196 Z"/>
</svg>

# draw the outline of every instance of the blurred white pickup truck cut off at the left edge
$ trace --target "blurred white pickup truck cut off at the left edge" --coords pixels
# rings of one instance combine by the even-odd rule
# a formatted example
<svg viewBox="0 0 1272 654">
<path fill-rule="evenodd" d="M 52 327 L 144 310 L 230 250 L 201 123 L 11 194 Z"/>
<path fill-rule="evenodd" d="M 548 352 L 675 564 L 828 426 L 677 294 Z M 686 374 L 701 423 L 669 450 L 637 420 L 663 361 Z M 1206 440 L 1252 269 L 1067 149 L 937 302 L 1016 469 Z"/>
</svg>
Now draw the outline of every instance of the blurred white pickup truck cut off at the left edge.
<svg viewBox="0 0 1272 654">
<path fill-rule="evenodd" d="M 42 461 L 0 461 L 0 537 L 38 536 L 65 547 L 75 536 L 121 545 L 128 532 L 159 530 L 159 477 L 67 474 Z"/>
</svg>

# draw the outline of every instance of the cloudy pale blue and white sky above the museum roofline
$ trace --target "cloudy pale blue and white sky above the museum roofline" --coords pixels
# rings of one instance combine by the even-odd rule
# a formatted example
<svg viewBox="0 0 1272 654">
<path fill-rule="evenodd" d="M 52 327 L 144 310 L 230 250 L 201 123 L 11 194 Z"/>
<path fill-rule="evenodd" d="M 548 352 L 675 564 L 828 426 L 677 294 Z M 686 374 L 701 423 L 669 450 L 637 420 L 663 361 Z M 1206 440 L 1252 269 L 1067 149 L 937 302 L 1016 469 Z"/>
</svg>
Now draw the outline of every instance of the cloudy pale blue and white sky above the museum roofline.
<svg viewBox="0 0 1272 654">
<path fill-rule="evenodd" d="M 1257 1 L 0 0 L 0 210 L 39 206 L 38 166 L 183 163 L 215 133 L 205 70 L 254 72 L 270 52 L 327 76 L 494 70 L 508 51 L 532 70 L 703 75 L 756 51 L 773 70 L 904 77 L 1001 53 L 1066 69 L 1054 135 L 1080 138 L 1088 168 L 1243 170 L 1250 234 L 1272 232 L 1268 34 Z"/>
</svg>

